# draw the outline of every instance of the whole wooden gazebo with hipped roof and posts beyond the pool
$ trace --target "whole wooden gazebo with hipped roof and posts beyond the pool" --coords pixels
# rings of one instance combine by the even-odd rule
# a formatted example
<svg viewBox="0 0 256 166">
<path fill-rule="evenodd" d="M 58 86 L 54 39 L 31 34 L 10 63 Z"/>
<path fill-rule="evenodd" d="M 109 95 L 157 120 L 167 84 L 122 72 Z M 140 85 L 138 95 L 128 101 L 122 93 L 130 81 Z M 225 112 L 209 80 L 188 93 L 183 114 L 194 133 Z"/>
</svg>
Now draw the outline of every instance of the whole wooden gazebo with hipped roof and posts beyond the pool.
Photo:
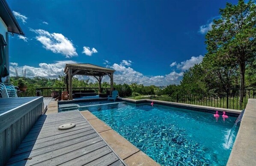
<svg viewBox="0 0 256 166">
<path fill-rule="evenodd" d="M 66 89 L 69 93 L 69 100 L 72 100 L 72 77 L 75 75 L 93 76 L 98 80 L 99 93 L 101 93 L 101 80 L 103 76 L 110 77 L 110 93 L 113 91 L 113 74 L 115 70 L 94 64 L 66 64 L 64 73 L 66 74 Z"/>
</svg>

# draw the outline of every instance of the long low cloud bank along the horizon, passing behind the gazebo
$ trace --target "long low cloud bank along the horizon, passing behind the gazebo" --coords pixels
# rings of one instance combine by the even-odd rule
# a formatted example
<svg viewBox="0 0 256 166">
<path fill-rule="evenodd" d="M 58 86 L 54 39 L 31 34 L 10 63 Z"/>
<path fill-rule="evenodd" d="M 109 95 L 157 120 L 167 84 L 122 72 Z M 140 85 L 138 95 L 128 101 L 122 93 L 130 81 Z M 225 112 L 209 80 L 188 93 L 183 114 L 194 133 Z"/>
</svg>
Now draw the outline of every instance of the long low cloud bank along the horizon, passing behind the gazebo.
<svg viewBox="0 0 256 166">
<path fill-rule="evenodd" d="M 122 61 L 123 62 L 123 61 Z M 114 73 L 114 82 L 117 84 L 124 84 L 124 83 L 134 83 L 137 82 L 138 84 L 148 85 L 169 85 L 169 84 L 179 84 L 180 80 L 182 79 L 183 72 L 177 73 L 173 71 L 164 76 L 144 76 L 142 73 L 137 72 L 133 68 L 123 64 L 114 63 L 111 66 L 107 66 L 116 70 Z M 128 61 L 129 62 L 129 61 Z M 63 70 L 65 64 L 70 63 L 77 63 L 75 61 L 56 61 L 55 63 L 47 64 L 47 63 L 40 63 L 37 67 L 32 66 L 19 66 L 18 63 L 11 62 L 10 63 L 10 76 L 16 76 L 15 69 L 18 70 L 18 75 L 22 76 L 22 70 L 26 70 L 27 77 L 35 77 L 35 76 L 42 76 L 47 78 L 57 78 L 59 75 L 63 74 Z M 132 63 L 131 61 L 129 63 Z M 78 79 L 90 79 L 89 82 L 95 82 L 96 80 L 93 77 L 88 76 L 76 76 Z M 103 81 L 110 82 L 108 76 L 103 77 Z"/>
</svg>

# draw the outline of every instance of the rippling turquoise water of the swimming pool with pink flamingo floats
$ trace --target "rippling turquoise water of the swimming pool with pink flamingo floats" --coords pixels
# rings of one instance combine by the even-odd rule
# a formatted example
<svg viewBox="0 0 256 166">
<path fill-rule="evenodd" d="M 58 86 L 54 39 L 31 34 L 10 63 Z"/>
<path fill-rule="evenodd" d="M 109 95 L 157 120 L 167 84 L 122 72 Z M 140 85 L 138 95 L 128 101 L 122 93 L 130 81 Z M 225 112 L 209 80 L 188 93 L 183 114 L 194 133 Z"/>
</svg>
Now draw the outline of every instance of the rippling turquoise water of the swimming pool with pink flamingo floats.
<svg viewBox="0 0 256 166">
<path fill-rule="evenodd" d="M 113 130 L 161 165 L 226 165 L 236 117 L 163 105 L 117 103 L 87 107 Z"/>
</svg>

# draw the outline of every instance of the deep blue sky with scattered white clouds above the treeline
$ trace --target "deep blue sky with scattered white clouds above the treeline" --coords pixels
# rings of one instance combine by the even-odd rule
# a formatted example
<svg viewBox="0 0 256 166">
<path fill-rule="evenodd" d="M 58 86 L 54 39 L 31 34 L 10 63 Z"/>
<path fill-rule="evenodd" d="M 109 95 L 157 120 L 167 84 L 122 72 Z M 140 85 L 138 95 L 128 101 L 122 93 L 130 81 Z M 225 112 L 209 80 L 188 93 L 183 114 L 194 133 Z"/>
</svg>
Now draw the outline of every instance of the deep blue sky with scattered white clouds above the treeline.
<svg viewBox="0 0 256 166">
<path fill-rule="evenodd" d="M 10 37 L 12 76 L 26 69 L 30 77 L 54 78 L 66 63 L 91 63 L 114 68 L 117 83 L 158 86 L 178 84 L 185 70 L 202 61 L 205 33 L 226 5 L 225 0 L 7 2 L 25 33 Z"/>
</svg>

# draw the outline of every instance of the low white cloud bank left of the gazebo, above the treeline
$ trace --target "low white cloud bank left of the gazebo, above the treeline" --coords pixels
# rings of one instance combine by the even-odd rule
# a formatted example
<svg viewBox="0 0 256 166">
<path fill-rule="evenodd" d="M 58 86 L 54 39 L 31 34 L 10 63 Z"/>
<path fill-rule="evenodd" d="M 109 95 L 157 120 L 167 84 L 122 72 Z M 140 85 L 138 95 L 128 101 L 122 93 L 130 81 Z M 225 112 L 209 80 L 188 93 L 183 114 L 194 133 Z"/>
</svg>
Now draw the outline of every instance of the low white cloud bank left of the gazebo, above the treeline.
<svg viewBox="0 0 256 166">
<path fill-rule="evenodd" d="M 52 64 L 40 63 L 38 67 L 18 66 L 18 63 L 10 63 L 10 76 L 16 76 L 15 69 L 18 70 L 18 75 L 22 76 L 22 70 L 26 70 L 27 77 L 42 76 L 47 78 L 57 78 L 64 73 L 65 64 L 76 63 L 75 61 L 56 61 Z"/>
</svg>

